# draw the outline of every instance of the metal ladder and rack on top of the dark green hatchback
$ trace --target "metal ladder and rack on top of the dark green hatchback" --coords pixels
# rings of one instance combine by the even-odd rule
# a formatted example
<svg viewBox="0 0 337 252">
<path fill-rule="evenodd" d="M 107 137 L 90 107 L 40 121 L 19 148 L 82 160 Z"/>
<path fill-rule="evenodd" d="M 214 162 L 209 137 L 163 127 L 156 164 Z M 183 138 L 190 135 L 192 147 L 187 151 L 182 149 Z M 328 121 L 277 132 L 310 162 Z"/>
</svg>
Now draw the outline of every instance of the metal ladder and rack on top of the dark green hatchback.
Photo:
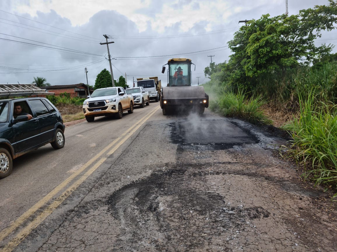
<svg viewBox="0 0 337 252">
<path fill-rule="evenodd" d="M 0 97 L 17 97 L 28 95 L 54 95 L 46 92 L 45 89 L 36 87 L 35 84 L 0 84 Z"/>
</svg>

